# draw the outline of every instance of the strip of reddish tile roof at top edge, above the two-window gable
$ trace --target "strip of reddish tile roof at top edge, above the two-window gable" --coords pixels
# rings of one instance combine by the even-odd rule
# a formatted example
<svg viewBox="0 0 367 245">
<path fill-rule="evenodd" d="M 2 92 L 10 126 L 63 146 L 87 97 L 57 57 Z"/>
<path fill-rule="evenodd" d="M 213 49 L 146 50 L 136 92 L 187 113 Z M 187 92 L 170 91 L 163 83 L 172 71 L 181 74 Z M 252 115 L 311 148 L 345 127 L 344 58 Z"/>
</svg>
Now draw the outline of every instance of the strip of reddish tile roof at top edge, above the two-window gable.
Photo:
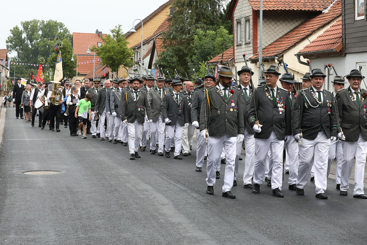
<svg viewBox="0 0 367 245">
<path fill-rule="evenodd" d="M 263 0 L 263 10 L 322 11 L 334 0 Z M 260 0 L 248 0 L 254 10 L 260 10 Z"/>
</svg>

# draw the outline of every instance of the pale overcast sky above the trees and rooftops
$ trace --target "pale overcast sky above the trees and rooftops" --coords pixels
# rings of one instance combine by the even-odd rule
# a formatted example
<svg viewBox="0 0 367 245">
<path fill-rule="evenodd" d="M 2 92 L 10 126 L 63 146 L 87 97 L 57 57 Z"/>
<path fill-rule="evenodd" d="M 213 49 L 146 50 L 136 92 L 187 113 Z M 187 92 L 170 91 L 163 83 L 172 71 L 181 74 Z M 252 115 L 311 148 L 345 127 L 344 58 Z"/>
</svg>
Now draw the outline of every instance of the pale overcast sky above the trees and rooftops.
<svg viewBox="0 0 367 245">
<path fill-rule="evenodd" d="M 168 0 L 10 0 L 1 11 L 0 49 L 6 49 L 10 29 L 22 21 L 56 20 L 73 32 L 110 33 L 116 25 L 130 30 L 135 19 L 143 20 Z M 135 22 L 135 25 L 138 21 Z M 8 53 L 15 56 L 16 53 Z"/>
</svg>

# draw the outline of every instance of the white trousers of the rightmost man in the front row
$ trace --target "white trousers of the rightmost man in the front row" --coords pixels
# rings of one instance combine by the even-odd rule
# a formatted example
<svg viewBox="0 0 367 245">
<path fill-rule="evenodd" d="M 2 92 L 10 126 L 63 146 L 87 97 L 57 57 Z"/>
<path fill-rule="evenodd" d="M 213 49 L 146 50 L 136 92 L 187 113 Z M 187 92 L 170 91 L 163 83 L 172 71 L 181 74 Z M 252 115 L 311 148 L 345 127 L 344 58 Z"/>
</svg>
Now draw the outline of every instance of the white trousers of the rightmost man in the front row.
<svg viewBox="0 0 367 245">
<path fill-rule="evenodd" d="M 352 172 L 354 157 L 356 162 L 354 165 L 354 192 L 353 195 L 365 194 L 363 190 L 363 180 L 365 177 L 365 164 L 367 154 L 367 141 L 359 135 L 357 142 L 342 141 L 343 146 L 343 164 L 340 190 L 346 191 L 349 187 L 349 177 Z"/>
</svg>

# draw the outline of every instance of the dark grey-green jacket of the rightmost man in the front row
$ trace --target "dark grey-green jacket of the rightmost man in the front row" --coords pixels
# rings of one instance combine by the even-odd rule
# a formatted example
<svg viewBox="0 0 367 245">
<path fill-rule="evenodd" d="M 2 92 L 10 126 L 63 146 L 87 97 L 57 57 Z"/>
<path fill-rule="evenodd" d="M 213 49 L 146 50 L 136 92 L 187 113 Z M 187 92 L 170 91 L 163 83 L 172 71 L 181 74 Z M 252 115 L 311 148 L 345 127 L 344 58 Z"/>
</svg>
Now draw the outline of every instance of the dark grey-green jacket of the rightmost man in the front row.
<svg viewBox="0 0 367 245">
<path fill-rule="evenodd" d="M 348 87 L 337 93 L 337 108 L 339 115 L 338 133 L 343 130 L 345 141 L 357 142 L 359 134 L 362 134 L 364 140 L 367 140 L 367 91 L 360 89 L 361 106 L 358 108 L 356 99 L 353 96 L 353 90 Z M 366 116 L 367 117 L 367 116 Z"/>
</svg>

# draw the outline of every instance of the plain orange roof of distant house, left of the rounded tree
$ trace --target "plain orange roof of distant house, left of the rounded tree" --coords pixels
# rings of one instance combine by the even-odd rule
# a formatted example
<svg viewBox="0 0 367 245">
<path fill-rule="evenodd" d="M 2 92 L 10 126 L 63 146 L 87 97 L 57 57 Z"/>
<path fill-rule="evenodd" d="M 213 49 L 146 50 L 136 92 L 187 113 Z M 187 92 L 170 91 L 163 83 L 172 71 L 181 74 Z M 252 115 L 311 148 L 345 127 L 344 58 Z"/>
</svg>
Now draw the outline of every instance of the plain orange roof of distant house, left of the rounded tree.
<svg viewBox="0 0 367 245">
<path fill-rule="evenodd" d="M 102 34 L 103 37 L 106 35 L 107 34 Z M 102 39 L 98 36 L 98 33 L 73 32 L 73 50 L 76 54 L 86 54 L 88 46 L 90 44 L 97 46 L 97 43 L 103 43 Z M 92 51 L 91 53 L 93 54 Z"/>
</svg>

